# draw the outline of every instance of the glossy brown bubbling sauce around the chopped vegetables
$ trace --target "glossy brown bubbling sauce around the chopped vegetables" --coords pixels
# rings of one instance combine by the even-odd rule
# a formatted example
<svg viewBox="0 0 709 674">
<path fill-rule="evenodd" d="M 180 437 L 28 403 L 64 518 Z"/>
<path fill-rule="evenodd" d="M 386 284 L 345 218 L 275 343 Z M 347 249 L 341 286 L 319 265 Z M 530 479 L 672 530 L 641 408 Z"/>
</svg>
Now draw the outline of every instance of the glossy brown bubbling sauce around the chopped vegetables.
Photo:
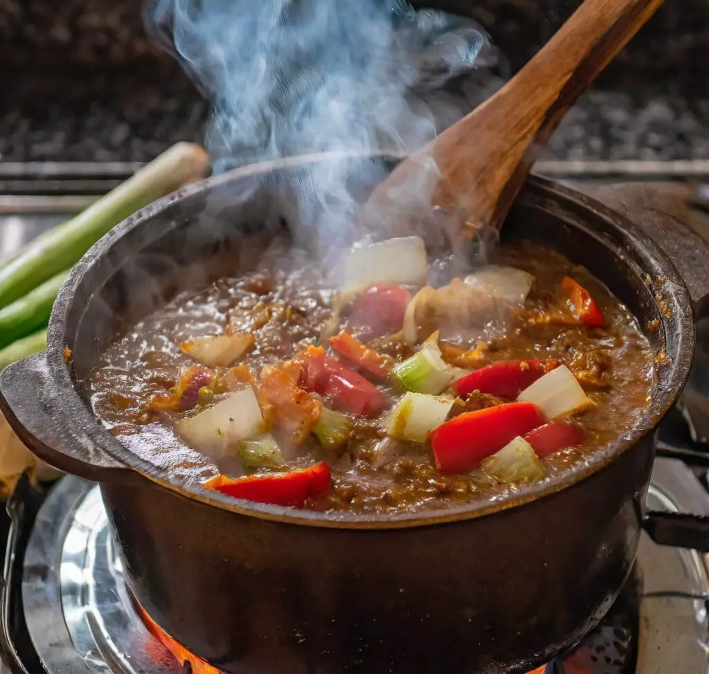
<svg viewBox="0 0 709 674">
<path fill-rule="evenodd" d="M 587 271 L 558 254 L 525 242 L 501 249 L 495 262 L 529 271 L 536 280 L 524 309 L 510 317 L 505 332 L 486 339 L 481 365 L 503 359 L 554 358 L 575 371 L 586 371 L 592 385 L 586 393 L 596 405 L 574 419 L 584 429 L 584 445 L 543 461 L 553 478 L 612 444 L 637 423 L 652 387 L 651 349 L 627 308 Z M 559 303 L 559 283 L 565 275 L 574 276 L 591 291 L 605 315 L 604 328 L 588 330 L 530 320 L 537 310 Z M 123 444 L 152 464 L 167 468 L 177 481 L 203 481 L 220 472 L 238 476 L 242 473 L 238 459 L 217 466 L 174 434 L 174 423 L 189 412 L 149 410 L 150 400 L 166 393 L 180 372 L 194 364 L 179 344 L 224 330 L 248 330 L 255 335 L 255 349 L 247 354 L 247 363 L 254 369 L 278 363 L 320 342 L 323 324 L 332 315 L 331 297 L 313 266 L 307 264 L 295 269 L 284 264 L 281 269 L 221 279 L 208 288 L 180 293 L 106 351 L 91 378 L 94 410 Z M 347 327 L 346 320 L 343 325 Z M 399 342 L 380 339 L 375 344 L 379 351 L 398 358 L 411 353 Z M 393 399 L 395 392 L 384 390 Z M 477 394 L 466 405 L 474 409 L 500 402 Z M 325 456 L 314 439 L 284 449 L 294 466 L 327 459 L 332 468 L 332 490 L 306 507 L 411 512 L 497 500 L 515 490 L 481 471 L 469 476 L 437 473 L 430 446 L 385 441 L 381 425 L 381 419 L 357 420 L 354 437 L 338 459 Z"/>
</svg>

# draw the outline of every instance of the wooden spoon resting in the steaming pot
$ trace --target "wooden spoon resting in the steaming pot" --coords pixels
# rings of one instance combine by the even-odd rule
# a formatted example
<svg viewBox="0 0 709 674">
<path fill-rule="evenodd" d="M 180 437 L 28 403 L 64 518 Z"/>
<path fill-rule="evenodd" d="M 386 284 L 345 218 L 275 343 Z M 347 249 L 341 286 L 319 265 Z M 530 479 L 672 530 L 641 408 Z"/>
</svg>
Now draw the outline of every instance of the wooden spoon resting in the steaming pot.
<svg viewBox="0 0 709 674">
<path fill-rule="evenodd" d="M 465 235 L 484 225 L 500 228 L 566 111 L 661 4 L 584 1 L 496 94 L 401 162 L 369 197 L 364 218 L 406 198 L 407 181 L 420 185 L 423 167 L 434 181 L 431 205 L 460 209 Z"/>
</svg>

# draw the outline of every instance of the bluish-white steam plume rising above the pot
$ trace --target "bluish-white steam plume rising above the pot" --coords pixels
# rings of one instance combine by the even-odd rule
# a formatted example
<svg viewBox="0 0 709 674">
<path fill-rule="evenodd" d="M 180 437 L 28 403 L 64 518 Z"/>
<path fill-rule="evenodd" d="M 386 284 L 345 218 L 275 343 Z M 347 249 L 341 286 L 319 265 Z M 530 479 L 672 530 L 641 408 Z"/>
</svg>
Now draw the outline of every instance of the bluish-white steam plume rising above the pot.
<svg viewBox="0 0 709 674">
<path fill-rule="evenodd" d="M 154 0 L 145 14 L 213 102 L 205 144 L 215 172 L 313 152 L 401 155 L 499 82 L 498 54 L 474 21 L 402 0 Z M 297 220 L 330 248 L 361 234 L 348 181 L 362 170 L 371 162 L 320 163 L 298 178 Z M 402 187 L 403 210 L 389 220 L 430 211 L 431 170 Z"/>
</svg>

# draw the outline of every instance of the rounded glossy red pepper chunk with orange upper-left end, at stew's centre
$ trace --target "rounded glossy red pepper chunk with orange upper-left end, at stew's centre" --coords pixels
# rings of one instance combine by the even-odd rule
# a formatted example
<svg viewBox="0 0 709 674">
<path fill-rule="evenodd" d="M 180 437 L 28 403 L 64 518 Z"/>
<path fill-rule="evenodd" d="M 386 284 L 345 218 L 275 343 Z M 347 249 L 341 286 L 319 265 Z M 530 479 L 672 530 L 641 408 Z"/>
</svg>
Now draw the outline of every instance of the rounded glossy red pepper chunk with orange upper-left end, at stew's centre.
<svg viewBox="0 0 709 674">
<path fill-rule="evenodd" d="M 302 386 L 322 395 L 329 407 L 365 417 L 384 408 L 386 398 L 379 388 L 340 361 L 325 356 L 322 347 L 308 347 L 296 360 L 303 368 Z"/>
</svg>

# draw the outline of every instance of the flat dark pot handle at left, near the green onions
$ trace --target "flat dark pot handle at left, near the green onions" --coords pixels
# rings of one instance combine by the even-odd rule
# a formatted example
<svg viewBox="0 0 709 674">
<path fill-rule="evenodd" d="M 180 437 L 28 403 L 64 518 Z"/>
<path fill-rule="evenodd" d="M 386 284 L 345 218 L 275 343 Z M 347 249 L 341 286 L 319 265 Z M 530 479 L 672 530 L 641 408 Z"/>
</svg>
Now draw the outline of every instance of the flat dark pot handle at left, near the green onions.
<svg viewBox="0 0 709 674">
<path fill-rule="evenodd" d="M 60 471 L 94 482 L 136 473 L 77 431 L 50 394 L 47 353 L 16 361 L 0 372 L 0 410 L 19 439 Z"/>
</svg>

